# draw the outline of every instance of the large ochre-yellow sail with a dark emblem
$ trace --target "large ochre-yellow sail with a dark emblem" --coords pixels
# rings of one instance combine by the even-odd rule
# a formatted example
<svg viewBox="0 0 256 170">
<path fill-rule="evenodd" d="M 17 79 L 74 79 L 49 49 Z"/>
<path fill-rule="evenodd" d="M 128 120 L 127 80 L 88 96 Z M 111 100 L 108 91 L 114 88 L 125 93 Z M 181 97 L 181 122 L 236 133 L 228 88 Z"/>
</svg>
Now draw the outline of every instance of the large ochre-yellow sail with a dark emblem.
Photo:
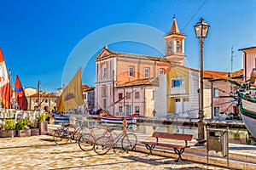
<svg viewBox="0 0 256 170">
<path fill-rule="evenodd" d="M 82 92 L 81 68 L 68 83 L 61 96 L 57 99 L 58 111 L 67 111 L 84 105 Z"/>
</svg>

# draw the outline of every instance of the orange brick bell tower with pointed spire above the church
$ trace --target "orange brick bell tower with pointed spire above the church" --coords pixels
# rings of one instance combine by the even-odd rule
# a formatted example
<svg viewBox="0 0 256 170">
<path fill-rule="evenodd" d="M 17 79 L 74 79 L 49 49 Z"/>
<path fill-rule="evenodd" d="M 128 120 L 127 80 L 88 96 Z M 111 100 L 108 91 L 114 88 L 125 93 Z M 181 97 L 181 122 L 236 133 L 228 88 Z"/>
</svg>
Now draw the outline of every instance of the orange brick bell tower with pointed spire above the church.
<svg viewBox="0 0 256 170">
<path fill-rule="evenodd" d="M 174 61 L 177 65 L 184 65 L 184 39 L 185 35 L 179 32 L 175 15 L 169 33 L 164 37 L 166 40 L 166 59 Z"/>
</svg>

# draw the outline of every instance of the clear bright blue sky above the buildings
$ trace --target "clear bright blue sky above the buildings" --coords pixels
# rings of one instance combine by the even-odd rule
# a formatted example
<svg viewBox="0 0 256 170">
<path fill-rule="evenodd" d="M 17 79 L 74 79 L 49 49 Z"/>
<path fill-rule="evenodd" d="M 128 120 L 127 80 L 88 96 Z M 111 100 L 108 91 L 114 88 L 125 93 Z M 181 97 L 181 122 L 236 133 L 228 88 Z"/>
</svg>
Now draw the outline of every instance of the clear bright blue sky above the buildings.
<svg viewBox="0 0 256 170">
<path fill-rule="evenodd" d="M 233 56 L 233 71 L 240 70 L 243 54 L 239 49 L 256 46 L 256 0 L 0 0 L 0 3 L 0 47 L 11 70 L 13 86 L 17 74 L 25 88 L 37 88 L 40 81 L 41 90 L 51 93 L 67 85 L 77 66 L 83 67 L 83 84 L 95 86 L 94 59 L 104 42 L 112 51 L 163 56 L 143 41 L 119 39 L 129 26 L 118 26 L 128 23 L 168 33 L 175 15 L 179 31 L 186 35 L 186 65 L 195 69 L 200 68 L 200 48 L 194 26 L 200 18 L 210 26 L 204 43 L 204 69 L 231 71 Z M 102 35 L 104 29 L 110 28 L 116 30 Z M 145 32 L 151 37 L 150 32 Z M 136 34 L 139 37 L 136 31 L 130 33 Z M 117 39 L 115 42 L 110 41 L 113 37 Z M 81 44 L 89 45 L 76 55 Z M 165 43 L 162 47 L 165 48 Z"/>
</svg>

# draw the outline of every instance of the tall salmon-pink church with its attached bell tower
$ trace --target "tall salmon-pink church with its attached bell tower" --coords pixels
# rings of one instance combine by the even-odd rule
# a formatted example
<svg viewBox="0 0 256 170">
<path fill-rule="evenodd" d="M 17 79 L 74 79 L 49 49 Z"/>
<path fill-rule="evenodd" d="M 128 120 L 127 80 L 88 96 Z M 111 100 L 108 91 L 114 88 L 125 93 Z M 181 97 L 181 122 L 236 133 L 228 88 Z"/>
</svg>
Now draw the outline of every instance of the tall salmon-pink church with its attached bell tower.
<svg viewBox="0 0 256 170">
<path fill-rule="evenodd" d="M 174 18 L 172 28 L 165 36 L 166 55 L 161 58 L 113 52 L 107 46 L 102 48 L 96 56 L 96 110 L 102 108 L 115 114 L 114 104 L 118 100 L 116 96 L 119 93 L 115 92 L 115 88 L 126 82 L 164 75 L 172 63 L 184 65 L 184 38 Z M 134 110 L 135 108 L 132 108 L 131 111 Z M 146 112 L 141 112 L 141 114 L 145 115 Z"/>
</svg>

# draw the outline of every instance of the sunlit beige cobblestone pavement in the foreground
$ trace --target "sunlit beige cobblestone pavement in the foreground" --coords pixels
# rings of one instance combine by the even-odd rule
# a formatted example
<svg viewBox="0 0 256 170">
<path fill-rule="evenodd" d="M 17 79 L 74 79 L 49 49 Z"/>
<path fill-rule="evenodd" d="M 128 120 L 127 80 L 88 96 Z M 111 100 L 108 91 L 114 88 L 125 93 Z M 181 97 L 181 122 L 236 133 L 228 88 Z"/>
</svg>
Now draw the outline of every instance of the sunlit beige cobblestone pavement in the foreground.
<svg viewBox="0 0 256 170">
<path fill-rule="evenodd" d="M 0 169 L 225 169 L 135 151 L 110 150 L 98 156 L 94 150 L 80 150 L 75 142 L 55 144 L 48 135 L 0 139 L 0 150 Z"/>
</svg>

